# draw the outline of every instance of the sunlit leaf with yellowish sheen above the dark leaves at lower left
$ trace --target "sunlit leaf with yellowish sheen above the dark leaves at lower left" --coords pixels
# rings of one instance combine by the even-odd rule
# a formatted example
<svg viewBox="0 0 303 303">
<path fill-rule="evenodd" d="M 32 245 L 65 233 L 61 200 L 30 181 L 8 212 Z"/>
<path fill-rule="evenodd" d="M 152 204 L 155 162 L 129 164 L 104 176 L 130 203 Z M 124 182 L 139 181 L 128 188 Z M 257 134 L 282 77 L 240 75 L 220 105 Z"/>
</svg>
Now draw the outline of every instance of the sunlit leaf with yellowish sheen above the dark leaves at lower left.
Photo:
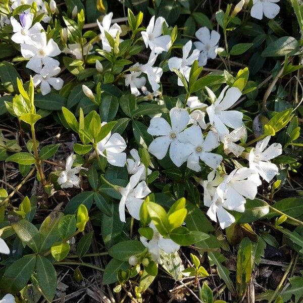
<svg viewBox="0 0 303 303">
<path fill-rule="evenodd" d="M 41 247 L 41 237 L 36 226 L 25 219 L 12 223 L 11 226 L 22 242 L 24 242 L 33 251 L 39 252 Z"/>
</svg>

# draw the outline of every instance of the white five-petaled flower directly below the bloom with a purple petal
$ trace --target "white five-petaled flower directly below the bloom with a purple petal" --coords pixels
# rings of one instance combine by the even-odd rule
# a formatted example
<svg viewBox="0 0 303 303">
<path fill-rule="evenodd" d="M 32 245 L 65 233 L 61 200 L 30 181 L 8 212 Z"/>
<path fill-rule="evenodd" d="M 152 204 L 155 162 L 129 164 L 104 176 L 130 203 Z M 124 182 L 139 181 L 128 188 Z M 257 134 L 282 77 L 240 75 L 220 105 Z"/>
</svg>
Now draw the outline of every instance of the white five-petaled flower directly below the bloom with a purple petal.
<svg viewBox="0 0 303 303">
<path fill-rule="evenodd" d="M 27 68 L 39 73 L 42 69 L 42 64 L 49 69 L 59 66 L 59 61 L 51 58 L 61 53 L 58 44 L 53 39 L 49 39 L 47 42 L 46 34 L 42 32 L 35 35 L 34 42 L 34 45 L 21 44 L 22 56 L 29 59 L 26 64 Z"/>
</svg>

